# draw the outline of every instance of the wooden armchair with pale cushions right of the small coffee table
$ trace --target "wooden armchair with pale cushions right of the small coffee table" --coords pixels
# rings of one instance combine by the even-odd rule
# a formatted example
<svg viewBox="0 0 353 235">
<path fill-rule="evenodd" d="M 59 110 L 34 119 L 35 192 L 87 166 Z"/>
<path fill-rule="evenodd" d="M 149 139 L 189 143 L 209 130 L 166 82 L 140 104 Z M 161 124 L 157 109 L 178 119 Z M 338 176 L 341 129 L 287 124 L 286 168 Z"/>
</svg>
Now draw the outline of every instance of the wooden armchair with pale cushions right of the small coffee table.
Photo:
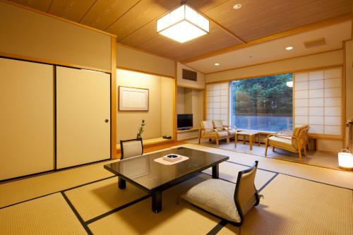
<svg viewBox="0 0 353 235">
<path fill-rule="evenodd" d="M 306 135 L 308 133 L 309 126 L 304 125 L 296 127 L 293 130 L 293 134 L 270 134 L 266 138 L 266 149 L 265 157 L 267 157 L 268 146 L 278 147 L 282 150 L 290 152 L 298 152 L 299 160 L 301 162 L 301 150 L 304 150 L 304 156 L 306 157 Z"/>
</svg>

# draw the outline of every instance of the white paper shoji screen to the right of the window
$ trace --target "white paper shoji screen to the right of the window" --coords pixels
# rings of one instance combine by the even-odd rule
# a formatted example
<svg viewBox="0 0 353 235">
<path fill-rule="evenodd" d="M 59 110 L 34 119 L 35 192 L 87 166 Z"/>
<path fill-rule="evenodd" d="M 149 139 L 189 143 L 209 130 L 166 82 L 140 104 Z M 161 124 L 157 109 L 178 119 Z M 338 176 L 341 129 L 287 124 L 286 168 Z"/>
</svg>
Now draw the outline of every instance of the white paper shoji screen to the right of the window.
<svg viewBox="0 0 353 235">
<path fill-rule="evenodd" d="M 309 124 L 309 133 L 342 134 L 342 69 L 294 75 L 294 123 Z"/>
</svg>

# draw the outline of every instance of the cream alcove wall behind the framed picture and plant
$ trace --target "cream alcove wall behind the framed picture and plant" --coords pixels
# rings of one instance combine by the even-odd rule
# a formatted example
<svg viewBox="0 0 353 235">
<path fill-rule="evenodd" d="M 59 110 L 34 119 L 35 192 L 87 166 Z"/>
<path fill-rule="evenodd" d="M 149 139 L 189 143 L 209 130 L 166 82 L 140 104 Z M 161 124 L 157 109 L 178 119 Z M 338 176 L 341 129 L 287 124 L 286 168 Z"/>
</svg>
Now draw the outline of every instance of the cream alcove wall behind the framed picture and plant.
<svg viewBox="0 0 353 235">
<path fill-rule="evenodd" d="M 143 139 L 159 138 L 162 135 L 172 135 L 174 79 L 138 73 L 123 69 L 116 69 L 116 85 L 147 88 L 149 90 L 148 112 L 119 112 L 116 113 L 116 143 L 120 140 L 136 138 L 137 130 L 142 119 L 146 126 Z M 117 97 L 119 99 L 119 97 Z M 116 105 L 117 105 L 116 101 Z M 116 107 L 116 110 L 118 108 Z"/>
</svg>

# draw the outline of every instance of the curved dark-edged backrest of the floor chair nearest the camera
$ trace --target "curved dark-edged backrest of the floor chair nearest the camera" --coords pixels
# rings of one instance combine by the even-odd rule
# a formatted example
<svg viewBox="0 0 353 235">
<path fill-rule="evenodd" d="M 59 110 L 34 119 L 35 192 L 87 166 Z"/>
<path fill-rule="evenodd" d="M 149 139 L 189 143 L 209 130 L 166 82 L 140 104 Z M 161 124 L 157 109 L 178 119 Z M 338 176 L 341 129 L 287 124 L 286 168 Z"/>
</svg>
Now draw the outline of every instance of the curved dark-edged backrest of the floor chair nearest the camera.
<svg viewBox="0 0 353 235">
<path fill-rule="evenodd" d="M 257 168 L 258 161 L 255 161 L 251 168 L 239 171 L 238 173 L 237 185 L 234 191 L 234 202 L 237 206 L 241 221 L 244 219 L 244 215 L 246 215 L 254 205 L 260 203 L 260 198 L 255 188 Z"/>
</svg>

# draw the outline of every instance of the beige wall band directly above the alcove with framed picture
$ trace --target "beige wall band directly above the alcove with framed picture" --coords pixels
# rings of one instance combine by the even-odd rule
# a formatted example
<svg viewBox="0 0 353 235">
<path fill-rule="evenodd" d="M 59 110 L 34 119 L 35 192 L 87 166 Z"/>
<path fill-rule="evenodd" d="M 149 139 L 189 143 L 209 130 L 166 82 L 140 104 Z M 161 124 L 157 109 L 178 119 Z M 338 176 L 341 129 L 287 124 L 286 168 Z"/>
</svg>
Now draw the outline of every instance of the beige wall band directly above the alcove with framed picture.
<svg viewBox="0 0 353 235">
<path fill-rule="evenodd" d="M 120 44 L 116 47 L 116 66 L 163 76 L 175 76 L 174 61 Z"/>
</svg>

